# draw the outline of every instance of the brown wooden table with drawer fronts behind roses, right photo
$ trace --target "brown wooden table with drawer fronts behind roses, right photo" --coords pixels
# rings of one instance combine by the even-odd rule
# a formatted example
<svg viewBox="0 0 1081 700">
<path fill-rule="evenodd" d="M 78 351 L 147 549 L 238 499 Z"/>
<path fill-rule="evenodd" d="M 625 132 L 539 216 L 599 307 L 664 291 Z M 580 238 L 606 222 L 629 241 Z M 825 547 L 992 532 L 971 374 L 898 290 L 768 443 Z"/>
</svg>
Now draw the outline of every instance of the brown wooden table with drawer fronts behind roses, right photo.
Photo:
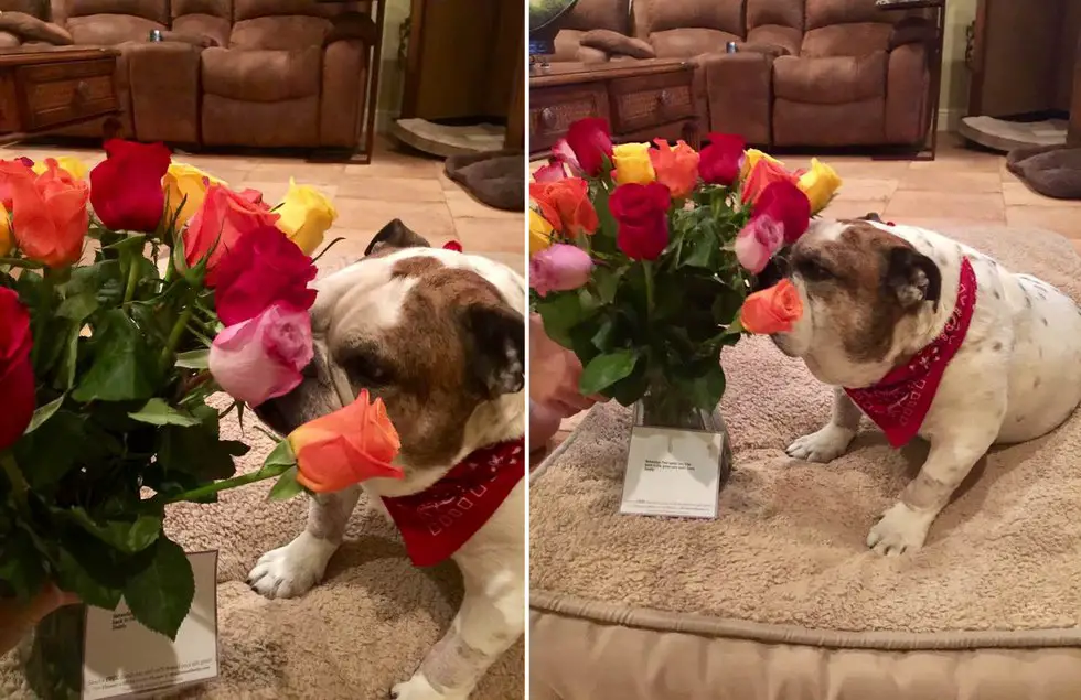
<svg viewBox="0 0 1081 700">
<path fill-rule="evenodd" d="M 529 149 L 548 151 L 579 119 L 608 120 L 616 141 L 683 139 L 698 148 L 694 65 L 678 60 L 555 63 L 529 76 Z"/>
</svg>

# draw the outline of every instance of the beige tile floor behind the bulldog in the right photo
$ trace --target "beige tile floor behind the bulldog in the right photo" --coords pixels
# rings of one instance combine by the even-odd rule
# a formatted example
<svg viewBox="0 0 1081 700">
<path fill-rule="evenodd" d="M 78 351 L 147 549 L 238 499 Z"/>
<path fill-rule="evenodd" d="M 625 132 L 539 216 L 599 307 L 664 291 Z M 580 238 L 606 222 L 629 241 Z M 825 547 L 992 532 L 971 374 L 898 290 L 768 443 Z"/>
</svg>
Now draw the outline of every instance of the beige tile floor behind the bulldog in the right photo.
<svg viewBox="0 0 1081 700">
<path fill-rule="evenodd" d="M 806 168 L 810 157 L 780 155 L 791 169 Z M 875 161 L 860 157 L 822 157 L 844 177 L 826 213 L 845 218 L 876 212 L 886 220 L 934 227 L 970 222 L 1036 226 L 1073 241 L 1081 252 L 1081 201 L 1052 200 L 1030 191 L 1006 170 L 1006 158 L 964 148 L 943 134 L 934 161 Z M 558 444 L 579 418 L 564 421 Z"/>
</svg>

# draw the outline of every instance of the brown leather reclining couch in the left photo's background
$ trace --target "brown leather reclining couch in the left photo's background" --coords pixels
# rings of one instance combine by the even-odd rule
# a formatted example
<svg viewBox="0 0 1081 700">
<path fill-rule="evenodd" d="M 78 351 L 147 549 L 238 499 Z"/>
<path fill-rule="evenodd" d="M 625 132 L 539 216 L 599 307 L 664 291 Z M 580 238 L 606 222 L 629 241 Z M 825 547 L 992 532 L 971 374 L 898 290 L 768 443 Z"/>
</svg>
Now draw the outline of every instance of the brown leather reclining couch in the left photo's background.
<svg viewBox="0 0 1081 700">
<path fill-rule="evenodd" d="M 0 0 L 0 10 L 50 0 Z M 125 136 L 202 146 L 356 146 L 375 24 L 365 2 L 51 0 L 75 45 L 120 51 Z M 164 41 L 151 42 L 152 30 Z M 99 136 L 97 126 L 73 134 Z"/>
</svg>

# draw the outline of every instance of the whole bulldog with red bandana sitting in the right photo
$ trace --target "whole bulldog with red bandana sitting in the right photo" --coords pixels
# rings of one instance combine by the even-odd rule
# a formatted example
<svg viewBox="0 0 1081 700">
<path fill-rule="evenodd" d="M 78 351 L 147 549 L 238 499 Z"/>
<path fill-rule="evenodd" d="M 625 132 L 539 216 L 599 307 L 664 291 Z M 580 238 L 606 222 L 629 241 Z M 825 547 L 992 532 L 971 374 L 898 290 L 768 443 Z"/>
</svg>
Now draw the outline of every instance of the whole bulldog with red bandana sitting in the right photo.
<svg viewBox="0 0 1081 700">
<path fill-rule="evenodd" d="M 870 528 L 880 554 L 920 549 L 931 523 L 991 445 L 1038 438 L 1081 402 L 1081 310 L 1064 293 L 940 234 L 875 220 L 816 220 L 786 261 L 803 301 L 773 336 L 834 387 L 830 422 L 788 454 L 830 462 L 866 414 L 893 446 L 930 453 Z"/>
</svg>

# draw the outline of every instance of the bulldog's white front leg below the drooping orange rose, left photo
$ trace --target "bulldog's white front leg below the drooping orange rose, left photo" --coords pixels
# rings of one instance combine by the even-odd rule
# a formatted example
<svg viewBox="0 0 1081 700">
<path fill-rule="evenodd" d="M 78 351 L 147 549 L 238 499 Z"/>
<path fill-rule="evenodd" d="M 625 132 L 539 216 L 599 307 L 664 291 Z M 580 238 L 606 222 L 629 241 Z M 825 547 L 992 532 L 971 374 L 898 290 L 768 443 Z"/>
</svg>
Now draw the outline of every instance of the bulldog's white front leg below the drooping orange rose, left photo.
<svg viewBox="0 0 1081 700">
<path fill-rule="evenodd" d="M 312 496 L 308 527 L 285 547 L 268 551 L 248 574 L 248 585 L 267 597 L 303 595 L 323 578 L 327 562 L 338 551 L 345 525 L 356 507 L 360 486 Z"/>
</svg>

